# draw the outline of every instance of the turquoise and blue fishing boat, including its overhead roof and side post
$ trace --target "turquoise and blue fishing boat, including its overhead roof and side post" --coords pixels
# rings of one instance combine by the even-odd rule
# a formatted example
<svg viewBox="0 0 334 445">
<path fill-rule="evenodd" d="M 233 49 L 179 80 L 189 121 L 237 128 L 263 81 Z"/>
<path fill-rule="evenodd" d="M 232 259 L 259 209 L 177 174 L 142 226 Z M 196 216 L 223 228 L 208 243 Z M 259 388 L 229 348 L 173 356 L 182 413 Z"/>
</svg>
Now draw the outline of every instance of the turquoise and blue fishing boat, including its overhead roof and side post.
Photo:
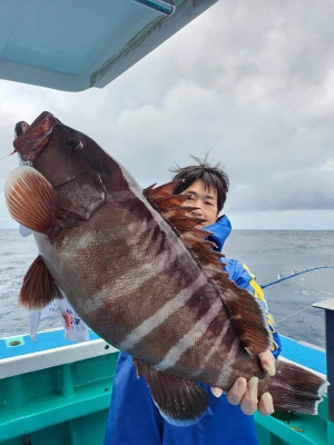
<svg viewBox="0 0 334 445">
<path fill-rule="evenodd" d="M 104 88 L 217 0 L 43 0 L 0 3 L 0 78 L 66 91 Z M 88 32 L 89 31 L 89 32 Z M 282 337 L 282 359 L 334 382 L 334 299 L 326 349 Z M 0 339 L 0 444 L 101 444 L 118 350 L 94 332 Z M 255 415 L 262 445 L 334 444 L 334 389 L 317 416 Z"/>
</svg>

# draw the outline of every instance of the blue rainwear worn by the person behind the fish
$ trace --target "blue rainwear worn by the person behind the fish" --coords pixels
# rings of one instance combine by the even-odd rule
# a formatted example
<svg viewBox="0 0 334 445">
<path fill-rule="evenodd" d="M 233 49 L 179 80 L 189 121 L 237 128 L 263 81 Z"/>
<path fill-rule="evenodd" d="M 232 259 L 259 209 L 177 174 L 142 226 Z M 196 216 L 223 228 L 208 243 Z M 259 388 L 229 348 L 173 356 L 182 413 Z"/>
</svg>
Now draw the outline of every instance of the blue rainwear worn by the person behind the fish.
<svg viewBox="0 0 334 445">
<path fill-rule="evenodd" d="M 222 250 L 230 233 L 226 216 L 206 227 L 214 235 L 209 239 Z M 272 352 L 281 352 L 279 337 L 261 287 L 248 268 L 236 259 L 223 258 L 224 269 L 239 287 L 258 298 L 273 333 Z M 174 426 L 165 421 L 144 377 L 137 378 L 132 358 L 120 352 L 114 379 L 111 404 L 107 421 L 105 445 L 257 445 L 253 416 L 246 416 L 239 405 L 230 405 L 226 396 L 216 398 L 207 385 L 209 406 L 200 421 L 191 426 Z"/>
</svg>

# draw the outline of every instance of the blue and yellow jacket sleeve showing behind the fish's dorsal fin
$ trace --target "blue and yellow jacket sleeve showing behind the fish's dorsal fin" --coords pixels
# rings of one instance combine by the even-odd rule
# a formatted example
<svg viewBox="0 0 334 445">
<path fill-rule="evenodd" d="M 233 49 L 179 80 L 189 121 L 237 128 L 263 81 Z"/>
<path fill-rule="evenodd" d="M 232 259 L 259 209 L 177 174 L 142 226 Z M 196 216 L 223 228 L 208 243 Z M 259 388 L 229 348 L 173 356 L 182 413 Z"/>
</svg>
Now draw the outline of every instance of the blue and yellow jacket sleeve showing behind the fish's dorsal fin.
<svg viewBox="0 0 334 445">
<path fill-rule="evenodd" d="M 225 270 L 229 275 L 229 279 L 235 281 L 237 286 L 247 289 L 254 296 L 254 298 L 259 301 L 262 309 L 267 318 L 268 327 L 273 337 L 271 349 L 274 357 L 277 358 L 282 350 L 281 338 L 276 330 L 275 320 L 264 297 L 262 287 L 256 283 L 255 276 L 252 274 L 246 265 L 236 259 L 226 260 L 224 258 L 224 261 L 226 261 Z"/>
</svg>

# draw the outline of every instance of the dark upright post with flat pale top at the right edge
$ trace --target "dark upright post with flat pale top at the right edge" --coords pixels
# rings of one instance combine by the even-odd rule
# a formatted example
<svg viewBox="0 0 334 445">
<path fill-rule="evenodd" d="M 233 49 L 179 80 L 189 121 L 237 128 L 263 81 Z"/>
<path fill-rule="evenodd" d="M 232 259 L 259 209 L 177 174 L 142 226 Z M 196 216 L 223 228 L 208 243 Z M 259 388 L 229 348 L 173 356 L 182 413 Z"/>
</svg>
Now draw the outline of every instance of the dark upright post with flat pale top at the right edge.
<svg viewBox="0 0 334 445">
<path fill-rule="evenodd" d="M 326 318 L 326 355 L 328 395 L 328 421 L 334 422 L 334 298 L 315 303 L 314 307 L 325 309 Z"/>
</svg>

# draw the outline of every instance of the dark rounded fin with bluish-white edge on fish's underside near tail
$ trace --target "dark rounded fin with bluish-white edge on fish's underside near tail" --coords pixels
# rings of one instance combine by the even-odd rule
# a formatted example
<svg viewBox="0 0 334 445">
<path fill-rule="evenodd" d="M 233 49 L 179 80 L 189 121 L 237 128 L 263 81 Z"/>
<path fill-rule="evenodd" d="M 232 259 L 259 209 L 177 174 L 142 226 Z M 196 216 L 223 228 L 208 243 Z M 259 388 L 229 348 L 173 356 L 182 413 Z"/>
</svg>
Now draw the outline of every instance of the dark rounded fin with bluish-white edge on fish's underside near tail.
<svg viewBox="0 0 334 445">
<path fill-rule="evenodd" d="M 134 360 L 137 376 L 144 376 L 161 416 L 173 425 L 188 426 L 206 413 L 208 394 L 194 380 L 171 376 Z"/>
</svg>

